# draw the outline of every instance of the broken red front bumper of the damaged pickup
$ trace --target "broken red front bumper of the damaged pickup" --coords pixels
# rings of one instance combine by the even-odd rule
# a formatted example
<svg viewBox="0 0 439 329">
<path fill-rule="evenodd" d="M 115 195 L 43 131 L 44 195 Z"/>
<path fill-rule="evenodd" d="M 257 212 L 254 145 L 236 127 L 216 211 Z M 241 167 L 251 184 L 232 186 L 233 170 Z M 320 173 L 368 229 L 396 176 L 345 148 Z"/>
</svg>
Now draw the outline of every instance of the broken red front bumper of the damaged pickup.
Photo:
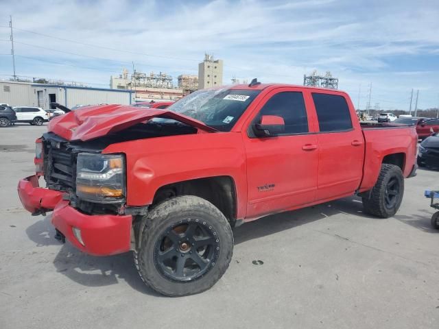
<svg viewBox="0 0 439 329">
<path fill-rule="evenodd" d="M 18 190 L 21 203 L 32 214 L 54 210 L 52 224 L 82 252 L 108 256 L 130 250 L 131 215 L 86 215 L 63 200 L 64 193 L 40 188 L 36 175 L 21 180 Z M 80 240 L 73 228 L 80 231 Z"/>
</svg>

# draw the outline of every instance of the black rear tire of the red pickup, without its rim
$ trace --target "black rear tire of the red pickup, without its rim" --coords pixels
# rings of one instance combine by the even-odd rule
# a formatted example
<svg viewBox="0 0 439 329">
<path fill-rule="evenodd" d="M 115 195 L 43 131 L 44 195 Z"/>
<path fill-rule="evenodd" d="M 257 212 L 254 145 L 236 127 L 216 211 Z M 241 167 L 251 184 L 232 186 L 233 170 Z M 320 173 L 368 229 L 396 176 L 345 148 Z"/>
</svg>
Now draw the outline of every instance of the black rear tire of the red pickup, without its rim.
<svg viewBox="0 0 439 329">
<path fill-rule="evenodd" d="M 386 203 L 386 190 L 390 180 L 397 180 L 399 183 L 399 193 L 392 206 Z M 368 194 L 368 193 L 367 193 Z M 370 195 L 363 197 L 364 212 L 369 215 L 389 218 L 396 214 L 404 195 L 404 177 L 401 169 L 394 164 L 381 164 L 378 180 L 373 186 Z"/>
</svg>

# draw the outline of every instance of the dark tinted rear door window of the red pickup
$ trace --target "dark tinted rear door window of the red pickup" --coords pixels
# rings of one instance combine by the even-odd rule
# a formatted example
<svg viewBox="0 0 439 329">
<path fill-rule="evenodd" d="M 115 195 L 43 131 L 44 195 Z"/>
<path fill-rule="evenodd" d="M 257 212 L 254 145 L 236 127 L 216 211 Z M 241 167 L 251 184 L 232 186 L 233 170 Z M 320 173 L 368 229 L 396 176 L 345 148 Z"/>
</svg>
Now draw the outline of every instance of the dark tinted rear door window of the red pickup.
<svg viewBox="0 0 439 329">
<path fill-rule="evenodd" d="M 351 112 L 340 95 L 312 93 L 320 132 L 340 132 L 352 129 Z"/>
</svg>

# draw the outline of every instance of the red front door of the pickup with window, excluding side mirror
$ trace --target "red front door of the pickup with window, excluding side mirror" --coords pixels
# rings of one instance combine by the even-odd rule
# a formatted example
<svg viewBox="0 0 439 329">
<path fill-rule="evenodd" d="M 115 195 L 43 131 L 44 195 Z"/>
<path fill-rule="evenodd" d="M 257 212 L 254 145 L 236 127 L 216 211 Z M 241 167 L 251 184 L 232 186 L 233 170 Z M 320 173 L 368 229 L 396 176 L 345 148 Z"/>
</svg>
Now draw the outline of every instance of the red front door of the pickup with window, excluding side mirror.
<svg viewBox="0 0 439 329">
<path fill-rule="evenodd" d="M 262 115 L 282 117 L 285 132 L 256 137 L 253 126 Z M 298 88 L 277 88 L 259 106 L 244 132 L 247 156 L 247 218 L 309 204 L 316 199 L 318 138 L 313 114 Z"/>
</svg>

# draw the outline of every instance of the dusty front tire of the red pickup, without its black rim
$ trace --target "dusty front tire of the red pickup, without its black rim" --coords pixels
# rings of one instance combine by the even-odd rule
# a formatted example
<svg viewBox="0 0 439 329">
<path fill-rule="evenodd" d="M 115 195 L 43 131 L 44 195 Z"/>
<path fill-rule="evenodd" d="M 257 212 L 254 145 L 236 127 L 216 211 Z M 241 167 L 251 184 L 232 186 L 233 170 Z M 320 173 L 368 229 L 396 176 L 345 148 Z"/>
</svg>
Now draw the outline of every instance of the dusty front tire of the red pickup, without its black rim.
<svg viewBox="0 0 439 329">
<path fill-rule="evenodd" d="M 163 275 L 154 262 L 154 247 L 169 227 L 187 221 L 208 223 L 219 240 L 217 258 L 209 271 L 189 282 L 173 281 Z M 143 219 L 139 249 L 134 251 L 134 263 L 139 275 L 149 287 L 170 297 L 193 295 L 211 288 L 226 272 L 233 255 L 233 232 L 226 217 L 210 202 L 193 195 L 168 199 L 155 206 Z"/>
</svg>

